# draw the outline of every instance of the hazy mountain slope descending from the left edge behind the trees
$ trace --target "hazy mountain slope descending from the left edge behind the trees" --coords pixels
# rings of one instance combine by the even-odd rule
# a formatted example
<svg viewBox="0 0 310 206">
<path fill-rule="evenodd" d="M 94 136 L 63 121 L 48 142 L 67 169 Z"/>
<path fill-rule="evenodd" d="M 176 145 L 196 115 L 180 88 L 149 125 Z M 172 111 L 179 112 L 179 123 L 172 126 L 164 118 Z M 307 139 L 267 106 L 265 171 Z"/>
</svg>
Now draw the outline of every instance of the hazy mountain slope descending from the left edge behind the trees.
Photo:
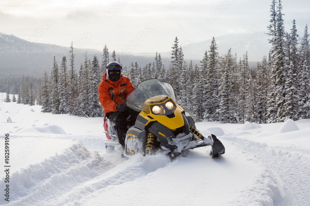
<svg viewBox="0 0 310 206">
<path fill-rule="evenodd" d="M 33 77 L 41 77 L 45 70 L 50 73 L 54 56 L 56 57 L 58 65 L 60 65 L 62 57 L 66 56 L 69 65 L 69 50 L 69 47 L 34 43 L 20 39 L 14 35 L 0 33 L 0 76 L 20 77 L 23 75 L 30 75 Z M 110 58 L 112 51 L 109 50 Z M 94 55 L 96 55 L 101 64 L 102 51 L 73 48 L 73 53 L 75 54 L 74 63 L 77 70 L 80 68 L 80 64 L 84 62 L 86 52 L 88 59 L 92 61 Z M 144 67 L 148 62 L 154 61 L 155 55 L 156 53 L 152 55 L 116 53 L 116 59 L 118 59 L 118 57 L 120 58 L 123 67 L 127 66 L 128 68 L 131 61 L 137 61 L 139 66 Z M 168 57 L 162 60 L 170 62 Z"/>
</svg>

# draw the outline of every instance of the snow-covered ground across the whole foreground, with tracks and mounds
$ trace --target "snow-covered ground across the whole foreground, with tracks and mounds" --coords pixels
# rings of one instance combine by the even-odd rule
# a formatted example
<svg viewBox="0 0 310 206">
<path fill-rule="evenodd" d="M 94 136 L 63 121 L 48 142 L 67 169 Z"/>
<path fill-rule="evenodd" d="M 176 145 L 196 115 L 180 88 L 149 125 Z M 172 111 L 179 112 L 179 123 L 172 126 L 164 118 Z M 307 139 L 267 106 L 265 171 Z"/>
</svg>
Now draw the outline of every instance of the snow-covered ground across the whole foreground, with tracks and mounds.
<svg viewBox="0 0 310 206">
<path fill-rule="evenodd" d="M 200 122 L 202 134 L 214 132 L 225 145 L 221 157 L 210 158 L 204 147 L 172 160 L 125 160 L 105 150 L 103 118 L 41 113 L 2 96 L 1 205 L 310 205 L 310 120 Z"/>
</svg>

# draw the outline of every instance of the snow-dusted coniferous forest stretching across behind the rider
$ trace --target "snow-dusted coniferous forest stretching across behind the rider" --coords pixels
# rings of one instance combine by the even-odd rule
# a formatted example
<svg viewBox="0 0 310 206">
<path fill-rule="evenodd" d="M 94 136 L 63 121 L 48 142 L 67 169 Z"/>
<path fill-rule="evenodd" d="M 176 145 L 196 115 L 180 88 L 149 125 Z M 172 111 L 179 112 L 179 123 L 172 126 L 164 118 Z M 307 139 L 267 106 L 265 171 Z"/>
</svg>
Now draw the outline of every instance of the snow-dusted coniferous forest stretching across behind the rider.
<svg viewBox="0 0 310 206">
<path fill-rule="evenodd" d="M 281 0 L 272 0 L 268 26 L 272 48 L 268 57 L 262 57 L 251 68 L 247 53 L 237 57 L 229 49 L 220 56 L 215 38 L 201 64 L 193 65 L 192 61 L 184 61 L 176 37 L 167 68 L 158 53 L 147 65 L 134 61 L 131 65 L 122 65 L 115 51 L 109 55 L 106 45 L 101 63 L 98 57 L 90 59 L 86 53 L 85 61 L 77 65 L 71 43 L 69 59 L 64 56 L 57 63 L 54 57 L 50 76 L 45 72 L 41 80 L 26 77 L 7 80 L 4 84 L 7 94 L 18 94 L 17 103 L 39 104 L 42 112 L 103 116 L 98 85 L 108 62 L 118 61 L 123 66 L 122 74 L 135 86 L 149 78 L 169 82 L 177 103 L 196 121 L 272 123 L 306 119 L 310 118 L 308 27 L 305 25 L 303 36 L 299 36 L 292 19 L 291 28 L 286 30 Z M 6 101 L 11 101 L 9 96 Z"/>
</svg>

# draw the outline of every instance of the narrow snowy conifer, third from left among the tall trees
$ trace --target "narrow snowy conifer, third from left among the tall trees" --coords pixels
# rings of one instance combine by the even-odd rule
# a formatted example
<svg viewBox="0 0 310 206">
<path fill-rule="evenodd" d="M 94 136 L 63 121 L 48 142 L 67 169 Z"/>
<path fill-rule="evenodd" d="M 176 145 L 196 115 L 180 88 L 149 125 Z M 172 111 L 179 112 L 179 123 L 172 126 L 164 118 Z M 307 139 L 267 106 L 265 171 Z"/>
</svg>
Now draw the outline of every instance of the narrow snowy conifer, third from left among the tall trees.
<svg viewBox="0 0 310 206">
<path fill-rule="evenodd" d="M 60 71 L 59 71 L 59 81 L 58 81 L 58 88 L 59 88 L 59 98 L 60 98 L 60 105 L 59 111 L 60 114 L 67 114 L 68 113 L 68 106 L 67 106 L 67 99 L 68 99 L 68 76 L 67 76 L 67 58 L 64 56 L 62 57 Z"/>
</svg>

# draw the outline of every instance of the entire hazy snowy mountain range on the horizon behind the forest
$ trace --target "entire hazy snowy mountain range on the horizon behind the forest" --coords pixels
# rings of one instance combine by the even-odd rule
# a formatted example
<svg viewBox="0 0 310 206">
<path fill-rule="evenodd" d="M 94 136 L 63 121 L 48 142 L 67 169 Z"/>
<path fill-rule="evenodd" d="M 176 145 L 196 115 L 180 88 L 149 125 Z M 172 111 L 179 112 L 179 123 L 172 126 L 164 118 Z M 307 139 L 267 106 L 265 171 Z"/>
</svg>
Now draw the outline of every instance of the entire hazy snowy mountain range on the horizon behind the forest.
<svg viewBox="0 0 310 206">
<path fill-rule="evenodd" d="M 264 32 L 256 32 L 253 34 L 228 34 L 215 37 L 218 52 L 221 56 L 232 48 L 233 53 L 237 53 L 238 57 L 248 52 L 250 66 L 255 62 L 261 61 L 264 55 L 268 55 L 270 45 L 268 44 L 268 36 Z M 70 42 L 68 42 L 68 45 Z M 204 53 L 210 49 L 211 39 L 183 45 L 184 59 L 189 64 L 189 60 L 193 60 L 193 64 L 200 65 Z M 172 44 L 171 44 L 172 45 Z M 111 57 L 113 49 L 110 48 L 109 55 Z M 93 59 L 94 55 L 98 57 L 101 63 L 102 51 L 95 49 L 73 48 L 75 54 L 75 67 L 78 70 L 80 64 L 84 62 L 85 53 L 87 58 Z M 171 51 L 160 53 L 162 62 L 169 67 Z M 52 68 L 53 57 L 56 57 L 60 65 L 63 56 L 67 56 L 69 62 L 69 47 L 57 46 L 54 44 L 34 43 L 20 39 L 14 35 L 0 33 L 0 75 L 20 77 L 30 75 L 33 77 L 41 77 L 46 70 L 50 73 Z M 155 53 L 116 53 L 116 58 L 120 57 L 123 67 L 129 67 L 131 61 L 144 67 L 148 62 L 153 62 Z M 69 64 L 68 64 L 69 65 Z"/>
</svg>

